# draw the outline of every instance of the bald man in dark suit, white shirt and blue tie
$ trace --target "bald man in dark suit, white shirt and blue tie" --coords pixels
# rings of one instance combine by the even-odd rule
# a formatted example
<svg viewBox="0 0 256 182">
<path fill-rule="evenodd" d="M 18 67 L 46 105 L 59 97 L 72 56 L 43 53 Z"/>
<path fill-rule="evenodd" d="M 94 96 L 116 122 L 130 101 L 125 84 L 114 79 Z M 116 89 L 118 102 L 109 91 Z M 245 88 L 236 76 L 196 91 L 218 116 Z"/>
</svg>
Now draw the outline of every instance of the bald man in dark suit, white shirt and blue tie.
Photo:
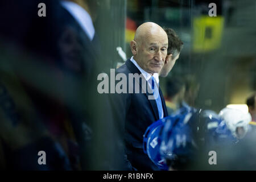
<svg viewBox="0 0 256 182">
<path fill-rule="evenodd" d="M 127 81 L 129 92 L 116 94 L 113 108 L 122 127 L 121 135 L 125 140 L 127 166 L 131 164 L 133 169 L 138 170 L 158 170 L 143 152 L 143 134 L 153 122 L 168 115 L 163 94 L 158 86 L 158 73 L 167 56 L 168 37 L 158 24 L 143 23 L 137 28 L 130 47 L 133 56 L 116 70 L 116 75 L 124 73 L 129 78 L 129 75 L 137 74 L 140 75 L 140 79 Z M 154 89 L 154 99 L 148 99 L 149 92 L 142 92 L 143 81 Z M 139 93 L 135 93 L 135 84 L 140 86 Z M 133 90 L 130 90 L 131 87 Z"/>
</svg>

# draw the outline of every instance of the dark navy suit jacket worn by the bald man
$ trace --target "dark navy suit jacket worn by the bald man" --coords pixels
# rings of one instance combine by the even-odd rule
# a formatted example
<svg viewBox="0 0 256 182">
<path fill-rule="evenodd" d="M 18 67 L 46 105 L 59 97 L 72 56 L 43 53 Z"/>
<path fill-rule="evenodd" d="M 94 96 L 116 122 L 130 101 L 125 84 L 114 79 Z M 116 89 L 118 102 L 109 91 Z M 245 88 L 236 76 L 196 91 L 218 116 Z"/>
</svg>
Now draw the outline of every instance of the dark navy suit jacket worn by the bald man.
<svg viewBox="0 0 256 182">
<path fill-rule="evenodd" d="M 139 69 L 128 59 L 122 67 L 116 70 L 118 73 L 124 73 L 127 78 L 129 73 L 141 74 Z M 144 79 L 144 77 L 142 77 Z M 141 79 L 139 79 L 141 80 Z M 138 81 L 138 80 L 137 80 Z M 127 90 L 128 90 L 127 80 Z M 140 86 L 142 88 L 141 82 Z M 133 89 L 135 81 L 133 81 Z M 141 89 L 140 88 L 140 89 Z M 134 91 L 134 90 L 133 90 Z M 159 88 L 160 97 L 162 100 L 164 117 L 166 117 L 167 109 L 164 102 L 163 94 Z M 113 100 L 113 110 L 115 111 L 116 119 L 121 124 L 122 133 L 124 133 L 127 159 L 138 170 L 158 170 L 154 163 L 143 152 L 143 134 L 147 127 L 159 119 L 158 107 L 155 100 L 148 100 L 150 93 L 121 93 L 115 94 Z"/>
</svg>

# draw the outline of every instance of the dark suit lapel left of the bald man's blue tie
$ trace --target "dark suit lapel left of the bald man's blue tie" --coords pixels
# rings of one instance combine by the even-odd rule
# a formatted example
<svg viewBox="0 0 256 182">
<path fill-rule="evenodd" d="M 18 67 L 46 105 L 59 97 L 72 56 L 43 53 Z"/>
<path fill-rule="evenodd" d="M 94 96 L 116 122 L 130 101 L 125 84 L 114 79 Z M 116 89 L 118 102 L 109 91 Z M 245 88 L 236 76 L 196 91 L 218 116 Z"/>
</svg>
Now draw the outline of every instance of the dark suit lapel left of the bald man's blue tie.
<svg viewBox="0 0 256 182">
<path fill-rule="evenodd" d="M 133 62 L 131 62 L 130 59 L 128 59 L 125 63 L 127 65 L 127 67 L 129 68 L 129 70 L 131 71 L 131 73 L 138 73 L 141 74 L 141 72 L 139 71 L 139 69 L 133 64 Z M 144 81 L 146 81 L 146 79 L 144 78 L 144 76 L 142 77 L 142 79 L 144 79 Z M 141 86 L 142 90 L 144 91 L 144 96 L 147 97 L 147 100 L 150 102 L 151 108 L 154 111 L 154 115 L 155 115 L 155 121 L 159 120 L 159 113 L 158 113 L 158 106 L 156 105 L 156 101 L 155 100 L 149 100 L 148 96 L 152 96 L 150 95 L 147 90 L 144 90 L 144 86 L 142 86 L 142 82 L 139 81 L 138 78 L 135 78 L 135 81 L 137 81 L 139 83 L 139 85 Z M 148 84 L 148 82 L 146 81 L 146 83 Z M 147 87 L 148 88 L 148 87 Z M 162 98 L 161 98 L 162 99 Z"/>
</svg>

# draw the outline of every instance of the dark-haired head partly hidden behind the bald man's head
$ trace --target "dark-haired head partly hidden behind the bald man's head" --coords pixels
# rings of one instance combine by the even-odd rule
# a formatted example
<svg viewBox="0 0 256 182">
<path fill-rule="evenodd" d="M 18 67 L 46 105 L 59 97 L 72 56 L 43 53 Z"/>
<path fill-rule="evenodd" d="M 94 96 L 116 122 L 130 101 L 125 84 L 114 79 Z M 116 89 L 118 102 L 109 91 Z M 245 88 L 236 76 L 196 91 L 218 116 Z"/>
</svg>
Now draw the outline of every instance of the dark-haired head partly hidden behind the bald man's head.
<svg viewBox="0 0 256 182">
<path fill-rule="evenodd" d="M 180 51 L 183 48 L 183 42 L 172 28 L 163 29 L 166 31 L 168 36 L 168 49 L 166 61 L 164 62 L 163 68 L 159 75 L 166 77 L 171 71 L 172 67 L 174 67 L 176 60 L 179 59 Z"/>
</svg>

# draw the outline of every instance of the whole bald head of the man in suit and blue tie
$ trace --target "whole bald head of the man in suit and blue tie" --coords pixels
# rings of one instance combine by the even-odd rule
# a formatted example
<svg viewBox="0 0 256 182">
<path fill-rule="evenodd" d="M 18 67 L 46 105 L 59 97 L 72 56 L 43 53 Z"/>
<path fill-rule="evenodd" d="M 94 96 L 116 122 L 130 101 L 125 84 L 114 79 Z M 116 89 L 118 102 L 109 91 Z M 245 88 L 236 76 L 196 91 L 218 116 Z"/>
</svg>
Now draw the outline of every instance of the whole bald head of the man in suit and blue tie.
<svg viewBox="0 0 256 182">
<path fill-rule="evenodd" d="M 159 73 L 167 55 L 168 37 L 156 23 L 141 24 L 130 43 L 131 52 L 138 65 L 148 73 Z"/>
</svg>

